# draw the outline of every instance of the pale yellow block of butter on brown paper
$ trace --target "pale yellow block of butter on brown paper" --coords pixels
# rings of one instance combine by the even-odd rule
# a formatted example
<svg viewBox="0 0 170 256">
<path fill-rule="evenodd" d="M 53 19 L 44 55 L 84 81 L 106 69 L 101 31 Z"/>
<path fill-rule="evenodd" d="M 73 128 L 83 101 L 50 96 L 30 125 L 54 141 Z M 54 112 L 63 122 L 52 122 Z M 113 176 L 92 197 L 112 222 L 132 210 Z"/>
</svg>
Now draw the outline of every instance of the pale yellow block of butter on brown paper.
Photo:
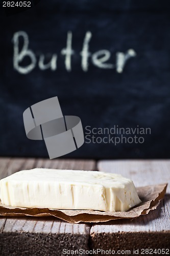
<svg viewBox="0 0 170 256">
<path fill-rule="evenodd" d="M 130 179 L 87 170 L 21 170 L 0 189 L 2 203 L 14 207 L 127 211 L 141 202 Z"/>
</svg>

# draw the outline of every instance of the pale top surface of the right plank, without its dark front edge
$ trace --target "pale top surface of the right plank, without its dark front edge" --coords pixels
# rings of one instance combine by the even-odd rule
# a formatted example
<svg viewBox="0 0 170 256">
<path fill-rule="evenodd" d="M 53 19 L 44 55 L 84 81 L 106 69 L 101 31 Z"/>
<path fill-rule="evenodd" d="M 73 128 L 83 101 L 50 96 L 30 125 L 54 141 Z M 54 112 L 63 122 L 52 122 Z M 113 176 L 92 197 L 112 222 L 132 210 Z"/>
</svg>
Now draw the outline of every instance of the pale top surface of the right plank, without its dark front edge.
<svg viewBox="0 0 170 256">
<path fill-rule="evenodd" d="M 134 181 L 135 186 L 145 186 L 169 182 L 169 160 L 102 160 L 98 162 L 98 169 L 102 172 L 121 174 Z M 132 221 L 117 220 L 107 225 L 93 225 L 90 233 L 115 232 L 170 232 L 170 195 L 167 194 L 158 208 L 146 216 Z"/>
</svg>

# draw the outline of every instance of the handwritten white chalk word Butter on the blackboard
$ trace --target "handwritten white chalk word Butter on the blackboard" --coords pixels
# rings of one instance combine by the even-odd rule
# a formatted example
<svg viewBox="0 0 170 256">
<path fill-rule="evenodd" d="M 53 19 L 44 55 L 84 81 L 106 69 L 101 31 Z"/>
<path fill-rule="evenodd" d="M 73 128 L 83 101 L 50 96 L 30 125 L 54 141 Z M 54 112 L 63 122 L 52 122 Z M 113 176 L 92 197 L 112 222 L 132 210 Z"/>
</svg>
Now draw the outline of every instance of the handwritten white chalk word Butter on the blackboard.
<svg viewBox="0 0 170 256">
<path fill-rule="evenodd" d="M 135 57 L 136 52 L 133 49 L 124 52 L 116 52 L 116 60 L 114 63 L 108 63 L 111 58 L 111 52 L 109 50 L 103 49 L 94 53 L 89 51 L 90 40 L 92 38 L 92 33 L 87 31 L 83 40 L 82 51 L 77 53 L 72 49 L 72 32 L 68 31 L 66 39 L 66 47 L 60 51 L 60 54 L 65 57 L 65 69 L 71 72 L 71 57 L 75 54 L 80 54 L 81 56 L 81 68 L 84 72 L 89 70 L 89 61 L 93 66 L 100 69 L 115 69 L 117 73 L 122 73 L 128 59 Z M 19 47 L 22 43 L 22 47 Z M 18 31 L 13 35 L 13 67 L 20 74 L 28 74 L 37 66 L 40 70 L 50 69 L 51 71 L 57 70 L 58 54 L 52 53 L 51 60 L 45 63 L 46 55 L 35 54 L 33 50 L 29 48 L 29 36 L 25 31 Z M 22 64 L 22 61 L 27 57 L 29 58 L 29 63 L 27 65 Z M 109 61 L 110 62 L 110 61 Z"/>
</svg>

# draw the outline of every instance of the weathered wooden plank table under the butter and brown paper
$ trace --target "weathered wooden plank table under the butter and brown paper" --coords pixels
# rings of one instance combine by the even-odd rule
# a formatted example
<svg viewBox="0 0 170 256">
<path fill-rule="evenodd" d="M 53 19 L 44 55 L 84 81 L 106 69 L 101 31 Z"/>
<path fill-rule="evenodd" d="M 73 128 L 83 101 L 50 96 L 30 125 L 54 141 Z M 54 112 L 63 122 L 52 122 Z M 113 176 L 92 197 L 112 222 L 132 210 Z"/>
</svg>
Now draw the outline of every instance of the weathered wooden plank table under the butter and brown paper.
<svg viewBox="0 0 170 256">
<path fill-rule="evenodd" d="M 35 167 L 87 169 L 119 173 L 135 186 L 169 182 L 169 160 L 49 160 L 34 158 L 0 158 L 0 175 L 4 178 L 17 170 Z M 65 250 L 167 249 L 170 254 L 170 189 L 158 208 L 132 221 L 116 220 L 100 224 L 69 224 L 56 218 L 0 218 L 0 255 L 71 255 Z M 91 251 L 90 251 L 91 252 Z M 104 251 L 103 251 L 104 252 Z M 152 252 L 152 251 L 150 251 Z M 160 250 L 153 255 L 161 255 Z M 107 253 L 107 252 L 106 252 Z M 113 253 L 112 253 L 113 254 Z M 119 253 L 120 254 L 120 253 Z M 130 253 L 127 251 L 126 254 Z M 163 254 L 163 253 L 162 253 Z M 88 251 L 84 254 L 88 255 Z M 91 255 L 91 254 L 90 254 Z M 99 252 L 97 255 L 106 255 Z M 110 254 L 111 255 L 111 254 Z M 121 255 L 121 254 L 120 254 Z M 167 254 L 165 254 L 167 255 Z"/>
</svg>

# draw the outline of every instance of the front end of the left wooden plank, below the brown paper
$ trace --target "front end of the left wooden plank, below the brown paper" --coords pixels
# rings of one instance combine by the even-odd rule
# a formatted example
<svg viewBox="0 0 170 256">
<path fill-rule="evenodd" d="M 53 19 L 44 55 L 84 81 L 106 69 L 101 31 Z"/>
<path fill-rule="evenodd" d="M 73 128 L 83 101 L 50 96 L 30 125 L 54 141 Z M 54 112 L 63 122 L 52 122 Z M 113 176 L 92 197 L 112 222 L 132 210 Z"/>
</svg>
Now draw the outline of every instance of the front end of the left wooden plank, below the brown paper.
<svg viewBox="0 0 170 256">
<path fill-rule="evenodd" d="M 77 226 L 77 228 L 74 228 Z M 90 226 L 69 224 L 50 218 L 10 218 L 0 233 L 1 255 L 64 255 L 63 249 L 89 249 Z M 78 254 L 79 255 L 79 254 Z"/>
</svg>

